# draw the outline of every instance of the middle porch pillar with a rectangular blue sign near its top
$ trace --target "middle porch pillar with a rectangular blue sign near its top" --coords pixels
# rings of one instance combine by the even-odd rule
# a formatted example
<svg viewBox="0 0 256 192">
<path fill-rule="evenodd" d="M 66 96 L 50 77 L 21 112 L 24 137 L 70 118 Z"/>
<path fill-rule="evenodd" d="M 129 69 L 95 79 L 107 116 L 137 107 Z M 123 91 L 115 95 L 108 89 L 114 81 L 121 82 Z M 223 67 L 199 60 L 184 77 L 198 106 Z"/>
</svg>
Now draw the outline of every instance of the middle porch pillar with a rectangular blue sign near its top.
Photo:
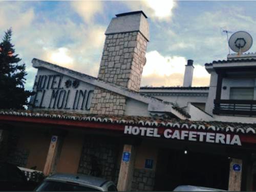
<svg viewBox="0 0 256 192">
<path fill-rule="evenodd" d="M 120 172 L 117 183 L 117 189 L 119 191 L 130 191 L 132 188 L 134 159 L 134 146 L 125 144 L 123 146 L 123 156 L 121 159 Z"/>
</svg>

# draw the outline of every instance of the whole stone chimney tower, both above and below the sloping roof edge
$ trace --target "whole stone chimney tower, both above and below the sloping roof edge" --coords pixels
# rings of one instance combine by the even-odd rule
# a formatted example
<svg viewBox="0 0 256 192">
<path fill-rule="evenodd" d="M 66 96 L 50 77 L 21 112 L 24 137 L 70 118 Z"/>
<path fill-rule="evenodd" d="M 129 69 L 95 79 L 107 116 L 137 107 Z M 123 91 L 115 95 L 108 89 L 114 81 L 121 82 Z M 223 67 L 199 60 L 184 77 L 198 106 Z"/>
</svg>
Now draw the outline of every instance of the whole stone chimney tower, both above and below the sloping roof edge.
<svg viewBox="0 0 256 192">
<path fill-rule="evenodd" d="M 142 11 L 117 14 L 106 29 L 98 78 L 139 91 L 149 41 L 147 16 Z M 95 87 L 92 114 L 124 115 L 126 98 Z"/>
</svg>

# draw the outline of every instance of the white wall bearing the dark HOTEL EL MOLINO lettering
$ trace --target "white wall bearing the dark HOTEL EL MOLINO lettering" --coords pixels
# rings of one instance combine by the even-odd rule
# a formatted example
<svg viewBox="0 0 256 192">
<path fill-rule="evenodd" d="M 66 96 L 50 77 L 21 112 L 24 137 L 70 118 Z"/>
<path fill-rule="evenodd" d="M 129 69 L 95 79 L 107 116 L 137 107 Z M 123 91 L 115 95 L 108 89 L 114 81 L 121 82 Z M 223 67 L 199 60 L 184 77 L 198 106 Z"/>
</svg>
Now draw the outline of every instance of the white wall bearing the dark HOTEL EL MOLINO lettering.
<svg viewBox="0 0 256 192">
<path fill-rule="evenodd" d="M 68 80 L 70 87 L 66 86 Z M 35 77 L 37 85 L 33 87 L 36 94 L 30 99 L 34 106 L 30 109 L 89 113 L 94 86 L 78 80 L 79 85 L 75 88 L 75 80 L 51 70 L 38 69 Z"/>
</svg>

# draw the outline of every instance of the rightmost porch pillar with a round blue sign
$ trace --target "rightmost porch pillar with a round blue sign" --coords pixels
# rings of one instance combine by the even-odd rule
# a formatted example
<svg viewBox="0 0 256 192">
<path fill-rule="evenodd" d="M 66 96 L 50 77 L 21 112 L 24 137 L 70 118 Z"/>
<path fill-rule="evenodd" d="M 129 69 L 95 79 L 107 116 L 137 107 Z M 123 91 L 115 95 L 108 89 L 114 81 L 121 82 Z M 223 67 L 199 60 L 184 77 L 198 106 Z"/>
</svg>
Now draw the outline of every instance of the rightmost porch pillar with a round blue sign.
<svg viewBox="0 0 256 192">
<path fill-rule="evenodd" d="M 242 181 L 242 160 L 230 159 L 228 190 L 240 191 Z"/>
</svg>

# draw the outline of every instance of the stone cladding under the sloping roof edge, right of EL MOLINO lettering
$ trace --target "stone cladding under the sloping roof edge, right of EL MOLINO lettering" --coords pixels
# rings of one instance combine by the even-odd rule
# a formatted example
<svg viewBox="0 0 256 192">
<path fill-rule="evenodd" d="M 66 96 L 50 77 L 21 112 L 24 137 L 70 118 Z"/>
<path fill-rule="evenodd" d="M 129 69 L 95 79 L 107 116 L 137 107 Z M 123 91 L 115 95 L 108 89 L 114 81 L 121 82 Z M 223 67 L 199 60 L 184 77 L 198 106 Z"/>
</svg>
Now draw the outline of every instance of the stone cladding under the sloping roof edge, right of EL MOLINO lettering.
<svg viewBox="0 0 256 192">
<path fill-rule="evenodd" d="M 101 88 L 95 88 L 91 102 L 91 114 L 124 115 L 125 97 Z"/>
</svg>

